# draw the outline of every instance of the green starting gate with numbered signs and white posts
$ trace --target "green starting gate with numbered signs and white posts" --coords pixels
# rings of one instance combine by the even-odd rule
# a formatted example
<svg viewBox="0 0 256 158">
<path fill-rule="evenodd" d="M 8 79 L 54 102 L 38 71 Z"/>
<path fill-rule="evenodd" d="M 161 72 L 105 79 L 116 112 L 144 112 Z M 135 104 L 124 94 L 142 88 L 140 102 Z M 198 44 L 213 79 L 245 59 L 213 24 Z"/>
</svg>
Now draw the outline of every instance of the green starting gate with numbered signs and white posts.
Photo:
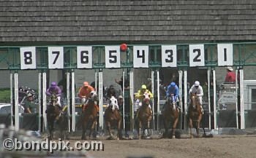
<svg viewBox="0 0 256 158">
<path fill-rule="evenodd" d="M 115 70 L 122 71 L 123 87 L 124 80 L 129 79 L 129 95 L 124 100 L 129 100 L 130 105 L 123 105 L 124 108 L 131 108 L 129 115 L 132 118 L 135 116 L 133 105 L 134 93 L 138 90 L 138 81 L 140 84 L 145 83 L 146 78 L 138 79 L 135 76 L 135 70 L 151 71 L 151 91 L 154 92 L 154 100 L 152 100 L 152 108 L 154 112 L 155 130 L 161 128 L 161 103 L 163 96 L 160 96 L 160 71 L 165 68 L 170 68 L 178 73 L 178 87 L 180 89 L 180 106 L 181 118 L 180 127 L 187 128 L 187 109 L 188 109 L 188 89 L 195 81 L 199 80 L 201 84 L 206 82 L 205 93 L 206 100 L 204 101 L 205 117 L 208 128 L 217 129 L 218 127 L 236 127 L 244 129 L 246 122 L 252 122 L 253 105 L 250 106 L 244 103 L 244 100 L 250 100 L 249 94 L 255 94 L 253 88 L 246 91 L 244 87 L 244 71 L 246 75 L 249 68 L 256 66 L 255 60 L 256 43 L 211 43 L 211 44 L 152 44 L 152 45 L 106 45 L 106 46 L 48 46 L 48 47 L 0 47 L 0 69 L 1 71 L 10 72 L 10 103 L 11 120 L 10 124 L 15 125 L 15 130 L 19 126 L 19 111 L 18 111 L 18 87 L 20 87 L 19 74 L 24 71 L 38 72 L 37 92 L 38 92 L 38 129 L 45 130 L 46 122 L 46 105 L 47 98 L 45 91 L 49 83 L 49 71 L 62 70 L 67 76 L 67 115 L 69 116 L 68 127 L 69 131 L 75 132 L 76 112 L 75 98 L 77 80 L 75 71 L 94 70 L 95 87 L 99 95 L 99 127 L 103 127 L 103 98 L 104 85 L 106 80 L 103 79 L 103 70 L 111 69 L 113 74 Z M 239 76 L 239 81 L 233 84 L 222 84 L 219 87 L 217 84 L 222 83 L 222 76 L 225 74 L 225 66 L 236 67 L 236 74 Z M 247 68 L 248 67 L 248 68 Z M 193 70 L 196 71 L 191 71 Z M 196 69 L 195 69 L 196 68 Z M 203 78 L 197 76 L 197 72 L 206 71 Z M 248 71 L 248 72 L 247 72 Z M 223 73 L 224 72 L 224 73 Z M 1 73 L 1 72 L 0 72 Z M 140 74 L 143 75 L 143 74 Z M 58 76 L 58 75 L 56 75 Z M 194 81 L 191 81 L 191 79 Z M 110 78 L 111 79 L 111 78 Z M 254 81 L 253 78 L 249 78 Z M 166 79 L 165 79 L 166 80 Z M 169 81 L 170 83 L 170 81 Z M 7 83 L 8 84 L 8 83 Z M 137 85 L 137 87 L 136 87 Z M 246 84 L 247 85 L 247 84 Z M 29 86 L 29 85 L 28 85 Z M 165 85 L 166 86 L 166 85 Z M 125 95 L 123 88 L 122 95 Z M 246 98 L 244 93 L 246 92 Z M 70 99 L 69 99 L 70 98 Z M 250 100 L 251 102 L 253 101 Z M 42 108 L 41 108 L 42 107 Z M 123 116 L 125 109 L 123 108 Z M 246 112 L 245 112 L 246 111 Z M 227 119 L 232 119 L 228 122 Z M 127 119 L 123 119 L 127 122 Z M 156 122 L 156 123 L 155 123 Z M 41 125 L 42 123 L 42 125 Z M 126 125 L 126 124 L 124 124 Z M 132 127 L 132 126 L 131 126 Z M 125 128 L 125 126 L 124 126 Z"/>
</svg>

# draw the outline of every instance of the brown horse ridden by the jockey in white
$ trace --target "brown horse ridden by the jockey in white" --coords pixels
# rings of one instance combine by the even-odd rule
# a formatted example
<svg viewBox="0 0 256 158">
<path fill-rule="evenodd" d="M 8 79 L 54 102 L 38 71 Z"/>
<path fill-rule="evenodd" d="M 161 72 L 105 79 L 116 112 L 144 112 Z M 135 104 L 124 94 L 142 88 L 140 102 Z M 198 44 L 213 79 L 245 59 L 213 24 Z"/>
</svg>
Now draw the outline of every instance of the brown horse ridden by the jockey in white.
<svg viewBox="0 0 256 158">
<path fill-rule="evenodd" d="M 197 137 L 199 137 L 200 122 L 203 116 L 202 105 L 197 95 L 190 93 L 190 106 L 189 106 L 189 133 L 190 138 L 192 135 L 192 127 L 195 127 Z"/>
</svg>

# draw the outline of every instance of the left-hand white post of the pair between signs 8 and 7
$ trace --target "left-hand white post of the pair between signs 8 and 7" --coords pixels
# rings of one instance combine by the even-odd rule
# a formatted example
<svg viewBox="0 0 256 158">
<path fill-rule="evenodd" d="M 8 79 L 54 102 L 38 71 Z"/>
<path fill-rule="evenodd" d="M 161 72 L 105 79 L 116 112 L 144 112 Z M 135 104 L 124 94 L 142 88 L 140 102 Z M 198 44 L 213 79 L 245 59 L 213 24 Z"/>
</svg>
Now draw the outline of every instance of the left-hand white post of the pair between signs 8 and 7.
<svg viewBox="0 0 256 158">
<path fill-rule="evenodd" d="M 42 131 L 41 129 L 41 120 L 42 120 L 42 73 L 38 73 L 38 130 Z"/>
</svg>

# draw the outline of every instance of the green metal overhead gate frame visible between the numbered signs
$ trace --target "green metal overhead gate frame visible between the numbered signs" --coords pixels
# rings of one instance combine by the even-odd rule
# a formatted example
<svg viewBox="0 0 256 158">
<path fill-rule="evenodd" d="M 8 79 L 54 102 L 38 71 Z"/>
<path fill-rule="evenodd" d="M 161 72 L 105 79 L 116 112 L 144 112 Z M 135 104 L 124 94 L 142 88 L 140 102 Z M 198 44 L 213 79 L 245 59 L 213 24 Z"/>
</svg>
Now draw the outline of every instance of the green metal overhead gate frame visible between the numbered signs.
<svg viewBox="0 0 256 158">
<path fill-rule="evenodd" d="M 148 44 L 149 68 L 161 68 L 161 45 Z M 189 67 L 189 44 L 177 45 L 177 68 Z M 217 43 L 204 44 L 205 67 L 216 67 Z M 76 46 L 64 47 L 64 69 L 75 69 Z M 93 45 L 93 68 L 105 68 L 105 46 Z M 48 69 L 48 47 L 36 47 L 37 69 Z M 121 52 L 121 68 L 132 68 L 132 45 Z M 233 66 L 256 66 L 256 42 L 233 43 Z M 0 70 L 20 70 L 20 47 L 0 47 Z"/>
</svg>

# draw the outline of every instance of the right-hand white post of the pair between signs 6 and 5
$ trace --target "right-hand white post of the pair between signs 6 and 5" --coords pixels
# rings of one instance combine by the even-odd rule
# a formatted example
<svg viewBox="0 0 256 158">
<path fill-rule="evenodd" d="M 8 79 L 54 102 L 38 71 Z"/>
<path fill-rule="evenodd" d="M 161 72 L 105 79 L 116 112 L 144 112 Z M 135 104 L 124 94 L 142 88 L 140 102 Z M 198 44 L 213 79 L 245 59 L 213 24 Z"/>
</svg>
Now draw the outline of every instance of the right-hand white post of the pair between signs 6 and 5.
<svg viewBox="0 0 256 158">
<path fill-rule="evenodd" d="M 103 129 L 103 73 L 99 71 L 99 129 Z"/>
</svg>

